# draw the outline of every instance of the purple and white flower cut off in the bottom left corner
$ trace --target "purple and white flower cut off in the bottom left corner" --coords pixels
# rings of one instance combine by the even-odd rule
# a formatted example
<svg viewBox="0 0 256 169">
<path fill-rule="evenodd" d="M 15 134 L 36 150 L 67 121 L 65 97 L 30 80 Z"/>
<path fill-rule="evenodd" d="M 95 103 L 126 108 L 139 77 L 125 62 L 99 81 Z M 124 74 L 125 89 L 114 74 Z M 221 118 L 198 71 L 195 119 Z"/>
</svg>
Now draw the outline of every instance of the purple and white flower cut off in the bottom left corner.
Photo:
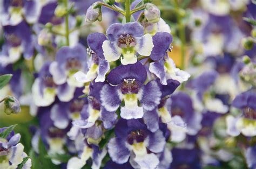
<svg viewBox="0 0 256 169">
<path fill-rule="evenodd" d="M 0 128 L 0 134 L 7 128 Z M 5 138 L 0 137 L 0 168 L 17 168 L 28 155 L 24 152 L 24 146 L 19 143 L 21 135 L 11 131 Z M 31 168 L 31 159 L 29 158 L 23 165 L 24 169 Z"/>
</svg>

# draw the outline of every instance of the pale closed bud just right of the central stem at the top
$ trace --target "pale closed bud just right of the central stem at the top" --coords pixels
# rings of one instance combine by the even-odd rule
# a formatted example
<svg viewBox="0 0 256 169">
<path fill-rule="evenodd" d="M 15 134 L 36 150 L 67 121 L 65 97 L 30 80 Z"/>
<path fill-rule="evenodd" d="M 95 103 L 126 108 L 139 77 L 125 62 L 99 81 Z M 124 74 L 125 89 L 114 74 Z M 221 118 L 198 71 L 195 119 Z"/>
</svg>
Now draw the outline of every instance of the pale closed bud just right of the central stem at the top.
<svg viewBox="0 0 256 169">
<path fill-rule="evenodd" d="M 146 3 L 144 13 L 149 23 L 157 23 L 160 19 L 160 10 L 152 3 Z"/>
</svg>

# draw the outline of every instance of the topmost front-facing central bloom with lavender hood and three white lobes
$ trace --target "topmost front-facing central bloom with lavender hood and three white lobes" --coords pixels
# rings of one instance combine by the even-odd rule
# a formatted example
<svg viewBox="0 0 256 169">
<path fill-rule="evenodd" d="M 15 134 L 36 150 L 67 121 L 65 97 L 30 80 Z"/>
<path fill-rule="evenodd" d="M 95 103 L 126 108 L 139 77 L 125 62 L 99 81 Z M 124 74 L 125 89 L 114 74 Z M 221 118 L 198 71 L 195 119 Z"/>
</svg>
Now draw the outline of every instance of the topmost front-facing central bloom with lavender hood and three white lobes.
<svg viewBox="0 0 256 169">
<path fill-rule="evenodd" d="M 135 64 L 136 52 L 142 56 L 149 56 L 154 46 L 151 35 L 144 35 L 143 26 L 137 22 L 112 24 L 106 34 L 109 40 L 105 40 L 102 47 L 105 59 L 109 62 L 118 60 L 123 54 L 123 65 Z"/>
</svg>

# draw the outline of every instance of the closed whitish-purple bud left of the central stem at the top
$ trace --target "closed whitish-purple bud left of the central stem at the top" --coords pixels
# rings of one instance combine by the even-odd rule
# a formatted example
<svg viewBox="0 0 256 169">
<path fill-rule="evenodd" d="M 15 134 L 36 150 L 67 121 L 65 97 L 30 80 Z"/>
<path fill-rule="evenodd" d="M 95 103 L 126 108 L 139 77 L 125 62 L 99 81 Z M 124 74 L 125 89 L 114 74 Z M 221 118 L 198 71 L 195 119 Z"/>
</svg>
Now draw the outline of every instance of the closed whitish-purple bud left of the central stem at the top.
<svg viewBox="0 0 256 169">
<path fill-rule="evenodd" d="M 86 22 L 93 23 L 96 20 L 102 20 L 102 8 L 97 6 L 98 3 L 92 4 L 86 11 Z"/>
</svg>

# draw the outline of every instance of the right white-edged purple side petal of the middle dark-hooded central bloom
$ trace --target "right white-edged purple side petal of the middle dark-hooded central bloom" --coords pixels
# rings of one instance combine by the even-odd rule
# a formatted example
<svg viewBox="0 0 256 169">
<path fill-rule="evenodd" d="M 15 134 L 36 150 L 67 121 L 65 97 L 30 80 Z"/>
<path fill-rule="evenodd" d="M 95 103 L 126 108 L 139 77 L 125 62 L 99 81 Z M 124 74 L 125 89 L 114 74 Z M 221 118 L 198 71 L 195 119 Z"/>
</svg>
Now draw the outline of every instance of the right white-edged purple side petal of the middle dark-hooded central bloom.
<svg viewBox="0 0 256 169">
<path fill-rule="evenodd" d="M 153 110 L 160 103 L 161 91 L 156 81 L 150 81 L 143 88 L 142 103 L 145 110 Z"/>
</svg>

